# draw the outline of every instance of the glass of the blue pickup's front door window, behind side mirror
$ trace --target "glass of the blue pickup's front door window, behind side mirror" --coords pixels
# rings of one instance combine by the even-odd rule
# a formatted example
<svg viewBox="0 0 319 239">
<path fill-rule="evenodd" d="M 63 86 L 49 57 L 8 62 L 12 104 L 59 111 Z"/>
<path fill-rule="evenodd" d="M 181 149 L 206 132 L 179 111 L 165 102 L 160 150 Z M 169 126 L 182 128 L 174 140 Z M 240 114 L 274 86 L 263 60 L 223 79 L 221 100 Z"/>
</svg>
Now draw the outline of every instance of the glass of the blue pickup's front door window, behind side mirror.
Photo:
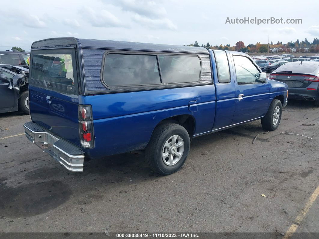
<svg viewBox="0 0 319 239">
<path fill-rule="evenodd" d="M 238 83 L 259 82 L 260 72 L 255 65 L 245 56 L 234 56 L 236 78 Z"/>
</svg>

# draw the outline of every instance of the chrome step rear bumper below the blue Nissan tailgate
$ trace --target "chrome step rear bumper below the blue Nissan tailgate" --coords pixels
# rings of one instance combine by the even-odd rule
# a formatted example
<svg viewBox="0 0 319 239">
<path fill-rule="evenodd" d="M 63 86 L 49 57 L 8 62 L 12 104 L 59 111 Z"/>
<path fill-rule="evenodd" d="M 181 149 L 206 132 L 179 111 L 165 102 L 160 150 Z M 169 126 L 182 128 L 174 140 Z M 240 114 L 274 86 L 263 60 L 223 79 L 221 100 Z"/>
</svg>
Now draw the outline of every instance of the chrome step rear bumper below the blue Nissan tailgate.
<svg viewBox="0 0 319 239">
<path fill-rule="evenodd" d="M 24 124 L 26 138 L 72 172 L 83 172 L 84 152 L 33 122 Z"/>
</svg>

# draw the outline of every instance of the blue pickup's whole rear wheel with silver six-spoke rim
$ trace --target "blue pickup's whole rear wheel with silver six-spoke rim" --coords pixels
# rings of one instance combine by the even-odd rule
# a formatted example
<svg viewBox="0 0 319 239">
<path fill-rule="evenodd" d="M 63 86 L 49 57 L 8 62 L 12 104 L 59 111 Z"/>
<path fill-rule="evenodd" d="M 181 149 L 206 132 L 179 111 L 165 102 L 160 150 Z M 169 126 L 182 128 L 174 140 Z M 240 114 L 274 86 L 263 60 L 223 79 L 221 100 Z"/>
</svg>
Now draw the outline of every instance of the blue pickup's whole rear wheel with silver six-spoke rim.
<svg viewBox="0 0 319 239">
<path fill-rule="evenodd" d="M 163 123 L 153 131 L 145 148 L 148 166 L 161 175 L 175 173 L 184 164 L 190 147 L 187 130 L 176 123 Z"/>
</svg>

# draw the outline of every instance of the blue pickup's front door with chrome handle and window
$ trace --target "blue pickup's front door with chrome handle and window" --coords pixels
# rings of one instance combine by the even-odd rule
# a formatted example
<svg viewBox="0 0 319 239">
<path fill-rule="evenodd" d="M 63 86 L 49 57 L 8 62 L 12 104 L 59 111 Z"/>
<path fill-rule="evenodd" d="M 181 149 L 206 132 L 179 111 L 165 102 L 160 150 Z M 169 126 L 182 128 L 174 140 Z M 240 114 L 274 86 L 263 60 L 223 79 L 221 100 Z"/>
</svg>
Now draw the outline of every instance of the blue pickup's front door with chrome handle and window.
<svg viewBox="0 0 319 239">
<path fill-rule="evenodd" d="M 235 113 L 232 124 L 262 117 L 269 104 L 268 80 L 259 81 L 260 71 L 247 56 L 233 55 L 235 81 Z"/>
</svg>

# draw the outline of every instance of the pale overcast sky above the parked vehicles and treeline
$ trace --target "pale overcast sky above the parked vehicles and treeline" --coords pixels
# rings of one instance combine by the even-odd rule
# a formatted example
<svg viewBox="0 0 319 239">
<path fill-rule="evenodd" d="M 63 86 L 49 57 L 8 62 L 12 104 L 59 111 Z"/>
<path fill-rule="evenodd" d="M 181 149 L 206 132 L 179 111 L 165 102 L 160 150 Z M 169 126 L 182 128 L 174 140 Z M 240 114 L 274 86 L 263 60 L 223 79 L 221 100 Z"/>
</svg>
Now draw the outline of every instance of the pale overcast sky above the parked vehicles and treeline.
<svg viewBox="0 0 319 239">
<path fill-rule="evenodd" d="M 17 9 L 17 11 L 15 11 Z M 33 41 L 78 37 L 188 45 L 319 38 L 319 1 L 3 1 L 0 50 L 29 50 Z M 302 19 L 302 24 L 225 24 L 227 17 Z"/>
</svg>

